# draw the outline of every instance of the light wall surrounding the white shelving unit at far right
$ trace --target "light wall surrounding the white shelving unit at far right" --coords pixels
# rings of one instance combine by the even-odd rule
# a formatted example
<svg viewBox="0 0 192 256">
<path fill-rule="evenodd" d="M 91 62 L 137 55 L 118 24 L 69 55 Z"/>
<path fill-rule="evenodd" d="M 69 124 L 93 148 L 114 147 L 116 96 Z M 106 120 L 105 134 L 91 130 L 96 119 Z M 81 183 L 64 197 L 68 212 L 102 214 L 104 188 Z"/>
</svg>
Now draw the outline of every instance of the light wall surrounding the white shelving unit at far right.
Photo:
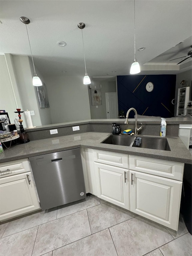
<svg viewBox="0 0 192 256">
<path fill-rule="evenodd" d="M 186 86 L 186 80 L 188 80 L 188 85 L 190 86 L 190 95 L 192 93 L 191 91 L 191 80 L 192 80 L 192 70 L 185 71 L 183 73 L 177 74 L 176 75 L 176 89 L 175 89 L 175 98 L 177 100 L 177 95 L 178 95 L 178 88 L 181 88 L 182 85 L 180 84 L 182 80 L 185 80 L 185 86 Z M 175 105 L 175 111 L 174 115 L 176 116 L 176 111 L 177 111 L 177 104 Z"/>
</svg>

